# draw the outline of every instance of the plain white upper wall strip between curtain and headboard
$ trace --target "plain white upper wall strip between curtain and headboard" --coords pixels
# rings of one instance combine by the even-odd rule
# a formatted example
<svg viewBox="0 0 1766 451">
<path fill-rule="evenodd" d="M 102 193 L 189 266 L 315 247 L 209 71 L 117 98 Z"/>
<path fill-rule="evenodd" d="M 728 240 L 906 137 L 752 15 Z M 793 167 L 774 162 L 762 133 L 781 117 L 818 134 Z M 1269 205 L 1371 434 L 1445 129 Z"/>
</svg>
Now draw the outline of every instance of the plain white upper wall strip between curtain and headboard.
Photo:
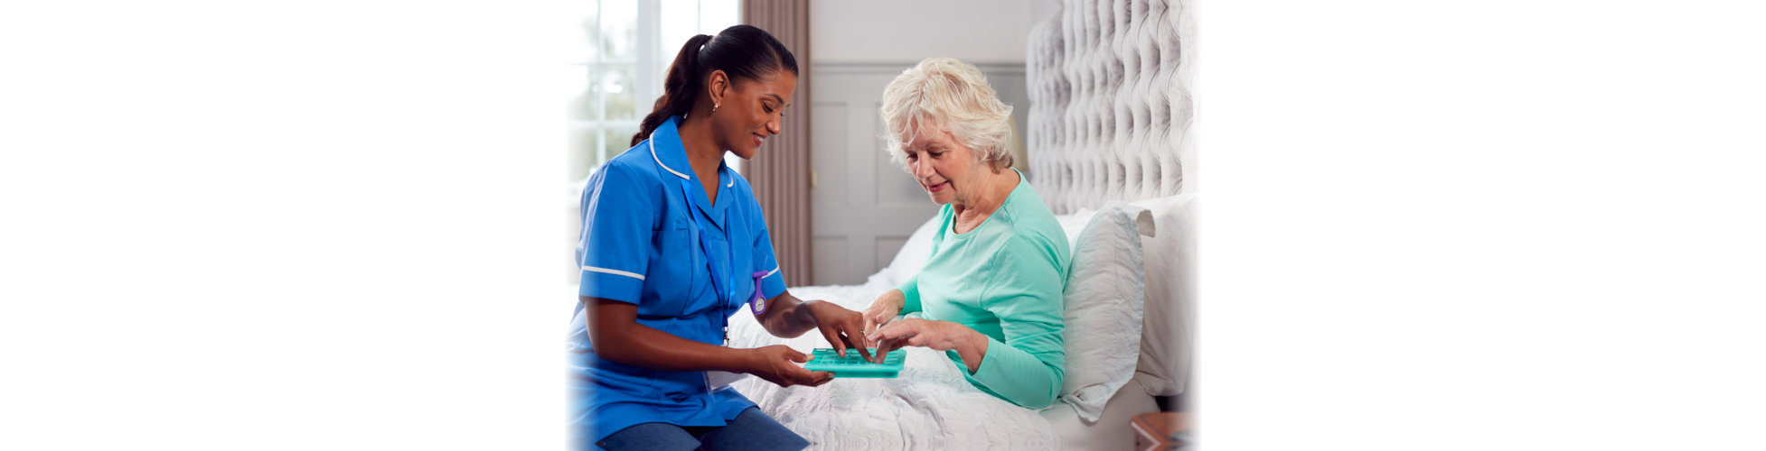
<svg viewBox="0 0 1766 451">
<path fill-rule="evenodd" d="M 1054 0 L 826 0 L 809 5 L 814 63 L 899 63 L 948 56 L 1023 63 L 1035 14 Z"/>
</svg>

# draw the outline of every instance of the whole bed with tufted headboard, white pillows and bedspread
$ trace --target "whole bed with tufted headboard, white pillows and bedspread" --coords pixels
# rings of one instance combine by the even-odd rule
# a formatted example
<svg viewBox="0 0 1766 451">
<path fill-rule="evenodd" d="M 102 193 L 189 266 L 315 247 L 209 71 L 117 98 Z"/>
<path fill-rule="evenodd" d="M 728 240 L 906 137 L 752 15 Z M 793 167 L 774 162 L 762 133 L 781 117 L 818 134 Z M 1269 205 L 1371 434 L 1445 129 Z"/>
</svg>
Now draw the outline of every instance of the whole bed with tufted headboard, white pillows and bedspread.
<svg viewBox="0 0 1766 451">
<path fill-rule="evenodd" d="M 1196 159 L 1189 0 L 1065 2 L 1030 35 L 1026 178 L 1067 229 L 1067 384 L 1030 410 L 970 386 L 943 352 L 909 347 L 897 379 L 821 388 L 735 384 L 814 449 L 1128 449 L 1130 418 L 1183 395 L 1194 342 Z M 1019 111 L 1024 111 L 1021 107 Z M 864 310 L 918 271 L 936 224 L 860 285 L 793 287 Z M 828 347 L 749 315 L 731 345 Z"/>
</svg>

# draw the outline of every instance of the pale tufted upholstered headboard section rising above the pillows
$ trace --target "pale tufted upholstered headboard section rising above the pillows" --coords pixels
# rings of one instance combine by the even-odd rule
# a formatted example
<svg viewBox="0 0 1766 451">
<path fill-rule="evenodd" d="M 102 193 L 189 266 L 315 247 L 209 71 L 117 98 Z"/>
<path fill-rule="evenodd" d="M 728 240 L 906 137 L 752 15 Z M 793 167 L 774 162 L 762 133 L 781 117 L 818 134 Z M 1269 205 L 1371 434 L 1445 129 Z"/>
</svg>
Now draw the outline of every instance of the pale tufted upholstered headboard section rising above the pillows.
<svg viewBox="0 0 1766 451">
<path fill-rule="evenodd" d="M 1030 33 L 1030 183 L 1054 213 L 1194 190 L 1192 0 L 1067 0 Z"/>
</svg>

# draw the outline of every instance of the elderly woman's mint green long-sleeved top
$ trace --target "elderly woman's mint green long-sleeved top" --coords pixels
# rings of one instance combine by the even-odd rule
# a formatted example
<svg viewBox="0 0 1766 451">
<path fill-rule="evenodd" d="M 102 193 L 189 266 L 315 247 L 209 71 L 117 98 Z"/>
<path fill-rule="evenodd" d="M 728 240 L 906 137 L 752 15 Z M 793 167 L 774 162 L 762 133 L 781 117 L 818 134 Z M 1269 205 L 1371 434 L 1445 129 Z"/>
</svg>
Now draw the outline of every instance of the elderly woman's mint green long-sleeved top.
<svg viewBox="0 0 1766 451">
<path fill-rule="evenodd" d="M 955 351 L 945 354 L 975 388 L 1028 409 L 1049 407 L 1061 395 L 1067 366 L 1061 292 L 1072 252 L 1061 224 L 1023 174 L 1000 210 L 973 231 L 950 229 L 950 204 L 938 218 L 932 255 L 899 287 L 906 298 L 901 312 L 987 335 L 987 354 L 975 373 Z"/>
</svg>

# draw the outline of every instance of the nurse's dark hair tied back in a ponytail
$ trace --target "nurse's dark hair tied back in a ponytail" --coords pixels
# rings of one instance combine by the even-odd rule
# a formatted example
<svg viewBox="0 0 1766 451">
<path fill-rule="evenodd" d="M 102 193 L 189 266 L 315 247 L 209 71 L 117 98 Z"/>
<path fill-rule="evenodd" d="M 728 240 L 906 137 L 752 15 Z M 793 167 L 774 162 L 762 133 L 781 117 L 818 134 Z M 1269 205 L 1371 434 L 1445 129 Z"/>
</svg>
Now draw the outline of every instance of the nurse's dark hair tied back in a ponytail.
<svg viewBox="0 0 1766 451">
<path fill-rule="evenodd" d="M 724 28 L 717 37 L 687 39 L 675 55 L 675 63 L 668 67 L 662 97 L 657 97 L 657 104 L 632 136 L 632 146 L 648 139 L 650 132 L 669 116 L 685 116 L 692 111 L 692 102 L 699 99 L 712 72 L 724 70 L 729 83 L 736 83 L 736 79 L 756 81 L 779 69 L 796 76 L 796 58 L 779 39 L 752 25 Z"/>
</svg>

